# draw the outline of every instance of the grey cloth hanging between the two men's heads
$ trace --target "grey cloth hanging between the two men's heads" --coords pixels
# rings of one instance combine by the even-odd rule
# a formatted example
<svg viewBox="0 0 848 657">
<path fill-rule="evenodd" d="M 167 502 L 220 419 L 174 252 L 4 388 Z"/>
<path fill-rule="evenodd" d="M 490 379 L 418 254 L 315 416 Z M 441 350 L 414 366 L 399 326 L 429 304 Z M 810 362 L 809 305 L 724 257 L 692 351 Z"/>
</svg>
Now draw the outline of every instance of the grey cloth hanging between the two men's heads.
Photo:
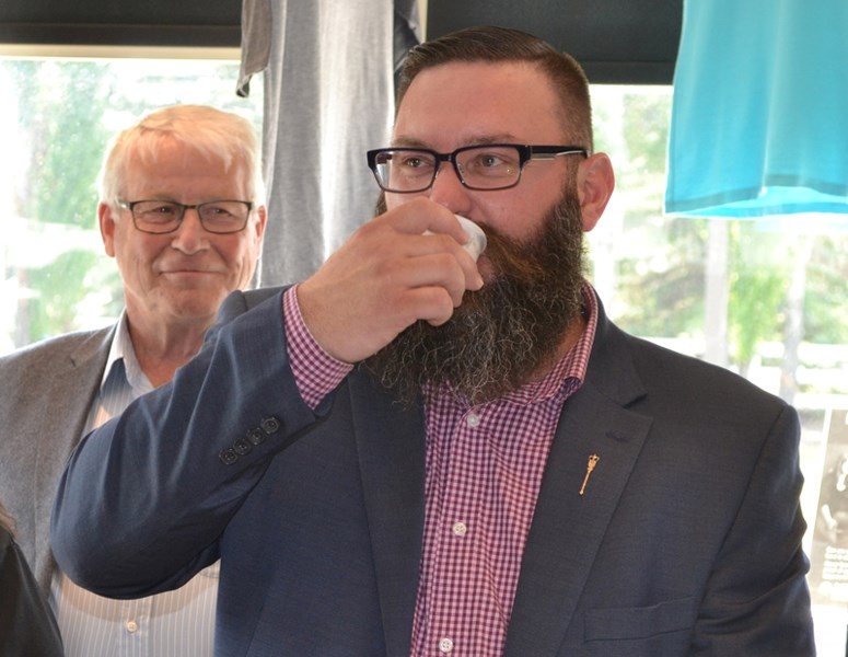
<svg viewBox="0 0 848 657">
<path fill-rule="evenodd" d="M 264 71 L 268 226 L 256 281 L 302 280 L 373 215 L 415 0 L 243 0 L 239 93 Z"/>
</svg>

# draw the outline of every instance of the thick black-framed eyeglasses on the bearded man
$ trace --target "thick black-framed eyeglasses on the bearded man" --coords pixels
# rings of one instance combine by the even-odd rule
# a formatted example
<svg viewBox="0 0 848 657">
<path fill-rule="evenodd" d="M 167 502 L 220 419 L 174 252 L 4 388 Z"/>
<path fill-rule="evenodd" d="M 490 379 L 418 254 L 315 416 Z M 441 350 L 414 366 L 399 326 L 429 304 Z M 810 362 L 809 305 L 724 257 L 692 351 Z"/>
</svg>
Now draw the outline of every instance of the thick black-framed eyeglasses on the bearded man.
<svg viewBox="0 0 848 657">
<path fill-rule="evenodd" d="M 580 146 L 523 146 L 486 143 L 465 146 L 452 153 L 429 148 L 379 148 L 368 151 L 368 165 L 385 192 L 413 194 L 429 189 L 442 162 L 450 162 L 460 182 L 468 189 L 508 189 L 521 181 L 531 160 L 553 160 L 560 155 L 588 157 Z"/>
</svg>

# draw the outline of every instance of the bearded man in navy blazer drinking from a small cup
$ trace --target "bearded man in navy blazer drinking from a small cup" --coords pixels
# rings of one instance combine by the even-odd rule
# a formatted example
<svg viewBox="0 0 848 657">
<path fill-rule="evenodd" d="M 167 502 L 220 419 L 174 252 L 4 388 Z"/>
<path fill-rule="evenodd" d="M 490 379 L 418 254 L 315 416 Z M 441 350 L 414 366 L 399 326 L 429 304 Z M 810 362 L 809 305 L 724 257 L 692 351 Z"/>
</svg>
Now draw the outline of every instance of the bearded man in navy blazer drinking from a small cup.
<svg viewBox="0 0 848 657">
<path fill-rule="evenodd" d="M 580 66 L 497 27 L 422 44 L 368 161 L 375 218 L 232 295 L 78 449 L 65 570 L 131 597 L 220 557 L 221 656 L 813 655 L 797 413 L 583 278 L 614 175 Z"/>
</svg>

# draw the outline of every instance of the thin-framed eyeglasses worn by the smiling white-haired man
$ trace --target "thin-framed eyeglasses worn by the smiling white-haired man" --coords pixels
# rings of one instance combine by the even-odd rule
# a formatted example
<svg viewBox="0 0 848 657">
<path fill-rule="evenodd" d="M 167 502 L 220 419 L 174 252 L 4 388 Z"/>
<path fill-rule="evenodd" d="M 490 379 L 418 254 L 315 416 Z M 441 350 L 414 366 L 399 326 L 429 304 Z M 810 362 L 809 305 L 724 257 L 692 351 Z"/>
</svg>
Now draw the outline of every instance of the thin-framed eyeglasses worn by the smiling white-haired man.
<svg viewBox="0 0 848 657">
<path fill-rule="evenodd" d="M 207 200 L 195 205 L 175 200 L 119 200 L 118 205 L 132 215 L 133 226 L 141 232 L 152 234 L 177 230 L 186 210 L 197 210 L 200 226 L 210 233 L 225 235 L 244 230 L 253 210 L 249 200 Z"/>
</svg>

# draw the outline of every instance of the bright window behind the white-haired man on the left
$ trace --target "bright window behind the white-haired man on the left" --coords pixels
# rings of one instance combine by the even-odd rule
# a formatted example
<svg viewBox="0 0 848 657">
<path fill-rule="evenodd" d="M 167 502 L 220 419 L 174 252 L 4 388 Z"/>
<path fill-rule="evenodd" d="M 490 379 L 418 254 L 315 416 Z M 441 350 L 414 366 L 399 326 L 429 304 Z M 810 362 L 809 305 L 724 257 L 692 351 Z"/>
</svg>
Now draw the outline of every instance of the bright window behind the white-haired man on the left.
<svg viewBox="0 0 848 657">
<path fill-rule="evenodd" d="M 95 188 L 115 132 L 150 110 L 199 103 L 239 113 L 260 134 L 262 85 L 236 96 L 237 50 L 113 51 L 0 56 L 0 95 L 11 99 L 0 106 L 0 354 L 120 312 Z"/>
</svg>

